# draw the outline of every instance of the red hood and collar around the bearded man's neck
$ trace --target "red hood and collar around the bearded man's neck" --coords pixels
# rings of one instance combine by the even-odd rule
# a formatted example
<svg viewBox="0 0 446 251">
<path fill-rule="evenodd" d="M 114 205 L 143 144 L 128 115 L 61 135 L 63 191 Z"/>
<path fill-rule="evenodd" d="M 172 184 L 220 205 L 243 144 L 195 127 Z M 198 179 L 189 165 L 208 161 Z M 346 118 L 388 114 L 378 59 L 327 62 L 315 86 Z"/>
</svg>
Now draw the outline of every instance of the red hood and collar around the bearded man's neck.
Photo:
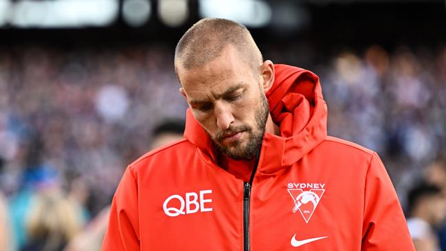
<svg viewBox="0 0 446 251">
<path fill-rule="evenodd" d="M 257 172 L 265 174 L 298 162 L 327 135 L 327 107 L 319 78 L 313 72 L 289 65 L 275 65 L 274 69 L 275 80 L 266 96 L 271 118 L 280 126 L 280 136 L 264 135 Z M 210 161 L 217 162 L 212 140 L 190 109 L 184 137 Z"/>
</svg>

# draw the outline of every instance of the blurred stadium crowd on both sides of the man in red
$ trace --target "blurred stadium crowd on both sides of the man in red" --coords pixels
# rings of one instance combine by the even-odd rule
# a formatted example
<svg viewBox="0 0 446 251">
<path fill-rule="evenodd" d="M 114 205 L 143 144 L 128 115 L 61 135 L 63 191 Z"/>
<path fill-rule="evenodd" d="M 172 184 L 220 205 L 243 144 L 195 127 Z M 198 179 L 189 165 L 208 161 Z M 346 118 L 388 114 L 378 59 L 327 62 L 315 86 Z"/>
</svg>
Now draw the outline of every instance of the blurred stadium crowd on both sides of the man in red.
<svg viewBox="0 0 446 251">
<path fill-rule="evenodd" d="M 377 151 L 408 218 L 439 230 L 446 47 L 371 45 L 313 59 L 265 48 L 274 63 L 320 76 L 328 132 Z M 124 168 L 150 149 L 157 124 L 185 118 L 178 88 L 166 46 L 0 47 L 0 250 L 70 250 L 70 240 L 102 226 Z M 444 212 L 424 219 L 418 212 L 430 209 L 417 201 L 431 195 Z"/>
</svg>

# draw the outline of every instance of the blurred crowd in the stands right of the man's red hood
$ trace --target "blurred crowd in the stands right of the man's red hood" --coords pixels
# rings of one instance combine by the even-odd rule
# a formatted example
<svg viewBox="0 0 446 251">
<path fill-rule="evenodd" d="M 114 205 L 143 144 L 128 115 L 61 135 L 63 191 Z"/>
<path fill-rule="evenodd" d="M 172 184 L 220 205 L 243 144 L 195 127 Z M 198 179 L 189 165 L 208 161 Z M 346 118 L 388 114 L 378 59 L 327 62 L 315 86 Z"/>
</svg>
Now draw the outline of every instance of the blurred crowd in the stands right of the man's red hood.
<svg viewBox="0 0 446 251">
<path fill-rule="evenodd" d="M 445 156 L 446 47 L 390 53 L 375 45 L 315 70 L 328 102 L 328 130 L 377 151 L 401 195 L 427 164 Z"/>
</svg>

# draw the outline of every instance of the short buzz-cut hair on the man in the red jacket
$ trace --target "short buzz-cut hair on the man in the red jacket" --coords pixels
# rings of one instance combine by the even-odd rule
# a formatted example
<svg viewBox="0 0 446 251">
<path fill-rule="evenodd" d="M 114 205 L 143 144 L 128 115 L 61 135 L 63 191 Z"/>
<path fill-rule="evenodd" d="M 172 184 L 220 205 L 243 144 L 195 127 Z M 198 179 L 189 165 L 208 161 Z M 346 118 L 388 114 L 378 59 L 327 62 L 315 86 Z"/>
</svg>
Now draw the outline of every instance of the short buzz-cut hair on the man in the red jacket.
<svg viewBox="0 0 446 251">
<path fill-rule="evenodd" d="M 226 45 L 233 45 L 245 63 L 253 70 L 263 63 L 263 57 L 247 28 L 227 19 L 201 19 L 183 34 L 175 48 L 175 72 L 179 67 L 200 67 L 221 56 Z"/>
</svg>

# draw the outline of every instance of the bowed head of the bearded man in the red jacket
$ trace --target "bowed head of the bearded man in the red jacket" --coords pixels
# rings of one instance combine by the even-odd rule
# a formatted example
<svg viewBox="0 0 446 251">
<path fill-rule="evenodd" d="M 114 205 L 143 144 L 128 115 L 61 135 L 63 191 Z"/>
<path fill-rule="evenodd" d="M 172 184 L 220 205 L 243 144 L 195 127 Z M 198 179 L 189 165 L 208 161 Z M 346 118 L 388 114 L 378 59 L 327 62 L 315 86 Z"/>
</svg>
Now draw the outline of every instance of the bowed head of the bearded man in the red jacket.
<svg viewBox="0 0 446 251">
<path fill-rule="evenodd" d="M 263 62 L 249 31 L 225 19 L 203 19 L 175 50 L 181 94 L 217 148 L 236 160 L 260 151 L 269 116 L 266 91 L 274 65 Z"/>
</svg>

